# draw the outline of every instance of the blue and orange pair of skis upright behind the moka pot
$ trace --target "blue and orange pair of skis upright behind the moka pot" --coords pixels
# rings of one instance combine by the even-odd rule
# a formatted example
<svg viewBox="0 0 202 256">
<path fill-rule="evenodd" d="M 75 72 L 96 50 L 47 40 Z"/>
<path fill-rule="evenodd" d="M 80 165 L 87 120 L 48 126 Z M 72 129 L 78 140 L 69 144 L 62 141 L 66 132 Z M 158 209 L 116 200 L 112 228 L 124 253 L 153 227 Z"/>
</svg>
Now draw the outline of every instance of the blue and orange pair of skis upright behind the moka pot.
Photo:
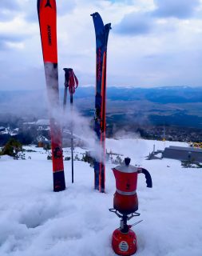
<svg viewBox="0 0 202 256">
<path fill-rule="evenodd" d="M 98 13 L 91 14 L 96 35 L 96 94 L 95 94 L 95 126 L 98 141 L 101 145 L 101 155 L 94 162 L 94 188 L 105 192 L 105 101 L 106 101 L 106 60 L 107 43 L 111 23 L 106 24 Z"/>
</svg>

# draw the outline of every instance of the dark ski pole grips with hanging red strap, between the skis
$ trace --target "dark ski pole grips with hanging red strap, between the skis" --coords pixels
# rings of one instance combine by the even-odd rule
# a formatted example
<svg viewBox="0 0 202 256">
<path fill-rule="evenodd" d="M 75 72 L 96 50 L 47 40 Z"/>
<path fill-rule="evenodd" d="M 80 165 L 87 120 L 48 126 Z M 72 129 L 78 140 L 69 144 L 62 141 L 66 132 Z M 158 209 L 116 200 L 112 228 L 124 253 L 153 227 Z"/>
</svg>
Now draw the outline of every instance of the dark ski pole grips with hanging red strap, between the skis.
<svg viewBox="0 0 202 256">
<path fill-rule="evenodd" d="M 63 70 L 65 71 L 65 87 L 69 87 L 69 94 L 74 94 L 78 86 L 77 77 L 73 73 L 73 69 L 64 68 Z"/>
</svg>

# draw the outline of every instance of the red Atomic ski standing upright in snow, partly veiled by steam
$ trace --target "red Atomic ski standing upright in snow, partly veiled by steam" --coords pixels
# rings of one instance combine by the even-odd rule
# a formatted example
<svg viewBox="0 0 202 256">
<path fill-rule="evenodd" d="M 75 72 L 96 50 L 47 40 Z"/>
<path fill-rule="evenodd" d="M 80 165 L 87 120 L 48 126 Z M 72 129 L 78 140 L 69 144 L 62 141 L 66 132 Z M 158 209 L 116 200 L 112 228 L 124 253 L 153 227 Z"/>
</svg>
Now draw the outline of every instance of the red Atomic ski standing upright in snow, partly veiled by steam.
<svg viewBox="0 0 202 256">
<path fill-rule="evenodd" d="M 55 0 L 38 0 L 38 21 L 50 112 L 50 137 L 53 162 L 53 191 L 65 190 L 61 146 L 61 124 L 58 121 L 59 89 L 57 70 L 57 9 Z"/>
</svg>

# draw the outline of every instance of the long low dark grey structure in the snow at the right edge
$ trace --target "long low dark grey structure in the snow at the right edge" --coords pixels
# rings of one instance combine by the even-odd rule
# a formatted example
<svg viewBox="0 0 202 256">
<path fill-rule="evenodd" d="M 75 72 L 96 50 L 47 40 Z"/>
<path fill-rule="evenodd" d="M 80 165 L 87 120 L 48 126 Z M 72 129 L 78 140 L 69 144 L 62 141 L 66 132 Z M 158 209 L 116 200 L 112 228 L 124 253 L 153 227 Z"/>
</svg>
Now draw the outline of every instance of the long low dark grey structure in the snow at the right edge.
<svg viewBox="0 0 202 256">
<path fill-rule="evenodd" d="M 169 146 L 164 149 L 162 156 L 163 158 L 202 162 L 202 149 L 184 146 Z"/>
</svg>

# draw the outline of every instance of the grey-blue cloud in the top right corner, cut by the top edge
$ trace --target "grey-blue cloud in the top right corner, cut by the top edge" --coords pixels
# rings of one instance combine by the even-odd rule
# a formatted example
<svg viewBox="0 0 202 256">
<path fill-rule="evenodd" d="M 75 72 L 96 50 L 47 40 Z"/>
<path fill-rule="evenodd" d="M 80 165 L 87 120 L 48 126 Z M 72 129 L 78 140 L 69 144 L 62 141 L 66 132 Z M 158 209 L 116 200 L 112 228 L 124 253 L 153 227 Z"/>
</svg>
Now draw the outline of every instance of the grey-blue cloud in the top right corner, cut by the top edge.
<svg viewBox="0 0 202 256">
<path fill-rule="evenodd" d="M 154 0 L 156 10 L 153 14 L 160 18 L 190 18 L 200 0 Z"/>
</svg>

